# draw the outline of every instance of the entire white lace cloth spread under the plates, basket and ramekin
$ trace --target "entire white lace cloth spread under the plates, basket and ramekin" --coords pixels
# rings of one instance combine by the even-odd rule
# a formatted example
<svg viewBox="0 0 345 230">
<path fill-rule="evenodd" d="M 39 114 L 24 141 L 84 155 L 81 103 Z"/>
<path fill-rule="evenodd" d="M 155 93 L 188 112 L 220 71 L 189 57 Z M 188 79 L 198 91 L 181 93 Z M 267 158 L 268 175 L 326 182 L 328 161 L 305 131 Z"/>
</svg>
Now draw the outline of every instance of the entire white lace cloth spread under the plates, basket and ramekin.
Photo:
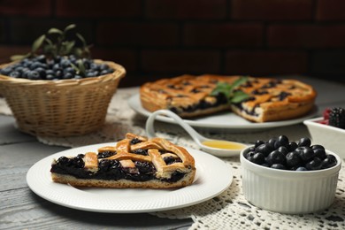
<svg viewBox="0 0 345 230">
<path fill-rule="evenodd" d="M 146 118 L 129 108 L 126 100 L 138 93 L 138 88 L 119 88 L 112 98 L 106 122 L 99 131 L 83 136 L 54 138 L 37 137 L 50 145 L 77 147 L 102 142 L 116 142 L 132 132 L 145 135 Z M 4 99 L 0 99 L 0 113 L 11 115 Z M 155 122 L 157 136 L 178 145 L 197 149 L 188 134 L 172 124 Z M 290 140 L 299 140 L 309 133 L 303 125 L 279 127 L 255 133 L 228 133 L 226 131 L 199 130 L 201 134 L 224 140 L 252 143 L 257 139 L 268 140 L 285 134 Z M 194 220 L 190 229 L 345 229 L 345 165 L 342 164 L 333 205 L 318 213 L 307 215 L 285 215 L 259 209 L 246 201 L 242 194 L 241 164 L 239 157 L 222 158 L 231 165 L 234 173 L 232 185 L 225 192 L 209 201 L 172 211 L 150 213 L 160 218 Z M 216 180 L 216 179 L 215 179 Z"/>
</svg>

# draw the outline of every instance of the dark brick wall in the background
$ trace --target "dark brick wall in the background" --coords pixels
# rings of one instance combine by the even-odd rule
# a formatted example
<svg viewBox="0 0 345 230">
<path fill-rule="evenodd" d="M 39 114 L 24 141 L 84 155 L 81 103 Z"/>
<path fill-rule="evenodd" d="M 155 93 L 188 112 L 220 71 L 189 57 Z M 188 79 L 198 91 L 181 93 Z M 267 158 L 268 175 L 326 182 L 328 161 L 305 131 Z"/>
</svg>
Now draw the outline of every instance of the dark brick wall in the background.
<svg viewBox="0 0 345 230">
<path fill-rule="evenodd" d="M 0 0 L 0 62 L 75 23 L 120 87 L 182 73 L 345 82 L 343 0 Z"/>
</svg>

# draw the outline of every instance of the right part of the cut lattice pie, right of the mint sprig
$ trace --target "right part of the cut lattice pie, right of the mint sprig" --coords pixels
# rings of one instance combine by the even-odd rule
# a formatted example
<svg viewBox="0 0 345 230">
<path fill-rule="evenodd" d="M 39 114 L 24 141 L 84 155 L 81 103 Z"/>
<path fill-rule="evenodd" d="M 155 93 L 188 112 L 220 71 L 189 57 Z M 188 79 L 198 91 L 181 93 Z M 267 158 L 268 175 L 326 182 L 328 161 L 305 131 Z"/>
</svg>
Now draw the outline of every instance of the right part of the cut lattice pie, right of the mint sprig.
<svg viewBox="0 0 345 230">
<path fill-rule="evenodd" d="M 243 118 L 255 122 L 301 117 L 313 109 L 317 96 L 314 88 L 299 80 L 251 78 L 241 89 L 249 94 L 249 99 L 231 104 L 231 108 Z"/>
</svg>

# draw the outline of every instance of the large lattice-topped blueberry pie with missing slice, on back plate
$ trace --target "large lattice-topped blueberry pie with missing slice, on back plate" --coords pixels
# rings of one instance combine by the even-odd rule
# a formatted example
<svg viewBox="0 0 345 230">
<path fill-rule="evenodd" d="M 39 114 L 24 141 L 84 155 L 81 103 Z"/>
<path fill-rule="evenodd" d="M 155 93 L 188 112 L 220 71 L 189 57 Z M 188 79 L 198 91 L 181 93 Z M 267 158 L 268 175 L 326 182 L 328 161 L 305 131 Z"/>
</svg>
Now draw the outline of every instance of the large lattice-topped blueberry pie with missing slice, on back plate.
<svg viewBox="0 0 345 230">
<path fill-rule="evenodd" d="M 249 95 L 242 103 L 230 104 L 224 96 L 211 96 L 218 82 L 231 84 L 240 77 L 182 75 L 148 82 L 140 88 L 142 107 L 148 111 L 171 110 L 182 118 L 231 109 L 244 119 L 267 122 L 303 116 L 314 106 L 316 91 L 299 80 L 249 77 L 237 88 Z"/>
</svg>

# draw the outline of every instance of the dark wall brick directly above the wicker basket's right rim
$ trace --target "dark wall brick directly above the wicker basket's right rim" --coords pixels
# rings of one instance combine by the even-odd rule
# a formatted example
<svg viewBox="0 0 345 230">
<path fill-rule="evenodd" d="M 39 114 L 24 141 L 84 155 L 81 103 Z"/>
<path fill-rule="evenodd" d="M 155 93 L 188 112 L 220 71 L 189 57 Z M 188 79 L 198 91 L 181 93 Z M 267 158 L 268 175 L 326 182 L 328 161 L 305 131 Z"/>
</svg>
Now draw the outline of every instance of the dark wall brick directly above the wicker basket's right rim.
<svg viewBox="0 0 345 230">
<path fill-rule="evenodd" d="M 138 52 L 133 49 L 93 48 L 92 58 L 103 59 L 118 63 L 125 67 L 126 71 L 138 70 Z"/>
</svg>

